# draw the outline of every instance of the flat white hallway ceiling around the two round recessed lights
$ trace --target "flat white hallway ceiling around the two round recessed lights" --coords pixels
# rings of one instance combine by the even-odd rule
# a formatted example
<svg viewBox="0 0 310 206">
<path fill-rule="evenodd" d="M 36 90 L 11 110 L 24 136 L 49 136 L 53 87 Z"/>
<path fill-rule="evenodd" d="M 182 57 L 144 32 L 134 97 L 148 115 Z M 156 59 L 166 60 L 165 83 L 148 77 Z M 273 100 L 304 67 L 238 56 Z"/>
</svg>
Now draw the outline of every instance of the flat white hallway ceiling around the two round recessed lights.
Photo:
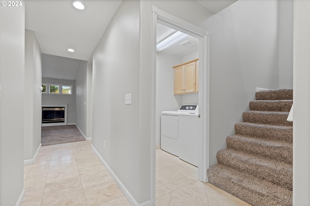
<svg viewBox="0 0 310 206">
<path fill-rule="evenodd" d="M 35 32 L 42 53 L 89 60 L 122 0 L 82 1 L 85 10 L 71 0 L 25 1 L 25 28 Z"/>
</svg>

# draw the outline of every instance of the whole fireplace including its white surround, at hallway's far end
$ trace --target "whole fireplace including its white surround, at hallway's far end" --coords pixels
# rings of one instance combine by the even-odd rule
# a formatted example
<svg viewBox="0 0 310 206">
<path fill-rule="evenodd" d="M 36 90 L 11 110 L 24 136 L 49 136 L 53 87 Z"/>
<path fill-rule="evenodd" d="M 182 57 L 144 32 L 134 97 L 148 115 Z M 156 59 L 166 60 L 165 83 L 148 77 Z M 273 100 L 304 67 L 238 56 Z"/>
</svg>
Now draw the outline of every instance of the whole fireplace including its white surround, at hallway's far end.
<svg viewBox="0 0 310 206">
<path fill-rule="evenodd" d="M 42 105 L 42 126 L 66 125 L 67 105 Z"/>
</svg>

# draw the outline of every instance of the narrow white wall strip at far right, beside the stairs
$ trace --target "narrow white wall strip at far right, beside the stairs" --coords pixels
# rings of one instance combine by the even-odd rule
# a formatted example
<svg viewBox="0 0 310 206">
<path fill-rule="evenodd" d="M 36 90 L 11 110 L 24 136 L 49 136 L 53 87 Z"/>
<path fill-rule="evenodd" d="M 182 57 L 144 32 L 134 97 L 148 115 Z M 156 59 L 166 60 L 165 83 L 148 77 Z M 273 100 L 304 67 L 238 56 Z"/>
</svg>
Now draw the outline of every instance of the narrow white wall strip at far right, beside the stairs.
<svg viewBox="0 0 310 206">
<path fill-rule="evenodd" d="M 310 205 L 310 1 L 294 1 L 293 205 Z"/>
</svg>

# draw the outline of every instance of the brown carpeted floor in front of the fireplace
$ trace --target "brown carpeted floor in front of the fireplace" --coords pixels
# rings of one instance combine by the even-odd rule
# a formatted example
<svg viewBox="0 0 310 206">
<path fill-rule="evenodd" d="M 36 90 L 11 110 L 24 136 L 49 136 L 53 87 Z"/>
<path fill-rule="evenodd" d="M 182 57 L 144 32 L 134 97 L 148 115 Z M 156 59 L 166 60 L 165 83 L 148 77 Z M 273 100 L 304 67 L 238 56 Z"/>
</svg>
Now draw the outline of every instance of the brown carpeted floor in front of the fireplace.
<svg viewBox="0 0 310 206">
<path fill-rule="evenodd" d="M 46 126 L 41 130 L 42 146 L 85 141 L 76 125 Z"/>
</svg>

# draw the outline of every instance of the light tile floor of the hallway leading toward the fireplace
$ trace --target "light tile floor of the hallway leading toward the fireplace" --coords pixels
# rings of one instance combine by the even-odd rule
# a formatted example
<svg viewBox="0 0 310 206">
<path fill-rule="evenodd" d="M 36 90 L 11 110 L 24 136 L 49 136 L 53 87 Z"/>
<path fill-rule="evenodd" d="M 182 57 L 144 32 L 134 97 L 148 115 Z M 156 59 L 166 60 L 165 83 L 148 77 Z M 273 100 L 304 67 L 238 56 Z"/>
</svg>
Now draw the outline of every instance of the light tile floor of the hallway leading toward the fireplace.
<svg viewBox="0 0 310 206">
<path fill-rule="evenodd" d="M 90 144 L 41 147 L 24 166 L 22 206 L 130 206 Z"/>
</svg>

